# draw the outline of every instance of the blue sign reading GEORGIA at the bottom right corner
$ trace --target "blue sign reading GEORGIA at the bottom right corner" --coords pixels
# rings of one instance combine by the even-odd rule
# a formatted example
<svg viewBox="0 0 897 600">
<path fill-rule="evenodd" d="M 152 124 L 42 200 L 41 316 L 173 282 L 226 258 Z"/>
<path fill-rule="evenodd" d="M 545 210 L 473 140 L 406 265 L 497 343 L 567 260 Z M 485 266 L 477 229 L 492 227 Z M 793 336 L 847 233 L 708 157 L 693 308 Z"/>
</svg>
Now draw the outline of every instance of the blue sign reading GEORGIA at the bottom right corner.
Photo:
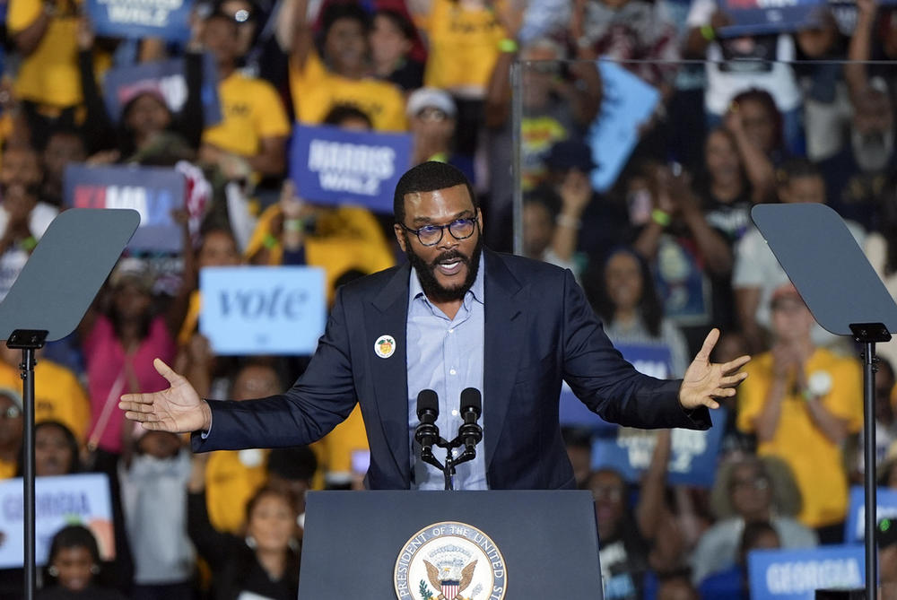
<svg viewBox="0 0 897 600">
<path fill-rule="evenodd" d="M 747 555 L 752 600 L 813 600 L 817 589 L 857 589 L 866 583 L 862 545 L 808 550 L 754 550 Z"/>
</svg>

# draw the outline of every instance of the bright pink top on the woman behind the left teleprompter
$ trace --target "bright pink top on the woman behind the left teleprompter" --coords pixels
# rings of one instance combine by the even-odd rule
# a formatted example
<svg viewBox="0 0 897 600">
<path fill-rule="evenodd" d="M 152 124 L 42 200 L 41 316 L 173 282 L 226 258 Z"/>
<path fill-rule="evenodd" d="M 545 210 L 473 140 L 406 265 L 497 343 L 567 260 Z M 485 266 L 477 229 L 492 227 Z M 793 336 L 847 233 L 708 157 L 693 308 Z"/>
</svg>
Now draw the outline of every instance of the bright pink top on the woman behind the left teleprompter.
<svg viewBox="0 0 897 600">
<path fill-rule="evenodd" d="M 91 333 L 84 340 L 84 358 L 87 362 L 87 389 L 91 395 L 91 435 L 98 427 L 103 406 L 109 398 L 112 387 L 116 384 L 119 373 L 125 366 L 125 349 L 122 347 L 112 322 L 108 317 L 97 317 Z M 108 452 L 121 452 L 121 430 L 125 422 L 125 413 L 118 408 L 118 396 L 131 392 L 158 392 L 168 387 L 168 382 L 152 367 L 152 360 L 160 358 L 170 364 L 174 360 L 177 346 L 169 334 L 165 319 L 155 317 L 150 324 L 150 333 L 131 357 L 134 367 L 137 389 L 131 378 L 125 376 L 124 386 L 111 404 L 109 421 L 100 435 L 99 446 Z"/>
</svg>

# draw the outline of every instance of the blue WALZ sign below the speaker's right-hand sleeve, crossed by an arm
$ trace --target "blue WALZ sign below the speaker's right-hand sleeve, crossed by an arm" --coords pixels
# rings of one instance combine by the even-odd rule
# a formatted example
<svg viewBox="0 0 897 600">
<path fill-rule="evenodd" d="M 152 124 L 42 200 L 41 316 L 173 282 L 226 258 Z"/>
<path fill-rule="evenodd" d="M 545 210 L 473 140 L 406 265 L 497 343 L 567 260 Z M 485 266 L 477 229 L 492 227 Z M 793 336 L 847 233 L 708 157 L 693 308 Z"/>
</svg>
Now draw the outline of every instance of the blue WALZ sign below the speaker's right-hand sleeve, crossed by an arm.
<svg viewBox="0 0 897 600">
<path fill-rule="evenodd" d="M 672 431 L 673 451 L 666 465 L 668 483 L 712 487 L 723 436 L 721 425 L 726 422 L 726 416 L 726 409 L 719 408 L 710 413 L 710 418 L 720 424 L 719 427 L 706 431 Z M 602 431 L 592 448 L 592 467 L 612 468 L 623 474 L 626 481 L 637 483 L 651 462 L 656 444 L 656 431 L 629 427 Z"/>
</svg>

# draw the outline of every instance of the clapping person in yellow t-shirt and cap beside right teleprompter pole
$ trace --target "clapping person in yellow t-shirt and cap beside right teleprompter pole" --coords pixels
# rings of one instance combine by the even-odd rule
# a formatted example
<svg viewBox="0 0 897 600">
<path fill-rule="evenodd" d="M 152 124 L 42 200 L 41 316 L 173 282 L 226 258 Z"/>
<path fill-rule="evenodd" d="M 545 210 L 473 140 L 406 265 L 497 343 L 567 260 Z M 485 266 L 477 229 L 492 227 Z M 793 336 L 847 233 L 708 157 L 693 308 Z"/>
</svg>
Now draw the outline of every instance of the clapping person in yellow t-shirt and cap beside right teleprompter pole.
<svg viewBox="0 0 897 600">
<path fill-rule="evenodd" d="M 823 543 L 840 541 L 848 481 L 841 448 L 862 426 L 859 364 L 816 347 L 813 315 L 795 287 L 771 298 L 774 342 L 755 357 L 738 391 L 738 429 L 757 436 L 757 454 L 779 457 L 803 497 L 798 519 Z"/>
</svg>

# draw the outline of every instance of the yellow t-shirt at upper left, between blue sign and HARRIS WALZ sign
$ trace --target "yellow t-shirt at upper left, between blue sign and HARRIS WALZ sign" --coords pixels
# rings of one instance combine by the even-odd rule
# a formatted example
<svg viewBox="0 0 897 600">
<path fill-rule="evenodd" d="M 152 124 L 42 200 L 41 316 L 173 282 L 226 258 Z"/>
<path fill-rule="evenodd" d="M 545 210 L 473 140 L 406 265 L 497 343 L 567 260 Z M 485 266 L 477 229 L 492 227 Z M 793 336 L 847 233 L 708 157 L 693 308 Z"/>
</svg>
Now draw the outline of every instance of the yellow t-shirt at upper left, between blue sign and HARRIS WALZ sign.
<svg viewBox="0 0 897 600">
<path fill-rule="evenodd" d="M 208 127 L 203 142 L 240 156 L 255 156 L 266 137 L 290 135 L 290 122 L 274 87 L 237 71 L 218 83 L 222 121 Z"/>
</svg>

